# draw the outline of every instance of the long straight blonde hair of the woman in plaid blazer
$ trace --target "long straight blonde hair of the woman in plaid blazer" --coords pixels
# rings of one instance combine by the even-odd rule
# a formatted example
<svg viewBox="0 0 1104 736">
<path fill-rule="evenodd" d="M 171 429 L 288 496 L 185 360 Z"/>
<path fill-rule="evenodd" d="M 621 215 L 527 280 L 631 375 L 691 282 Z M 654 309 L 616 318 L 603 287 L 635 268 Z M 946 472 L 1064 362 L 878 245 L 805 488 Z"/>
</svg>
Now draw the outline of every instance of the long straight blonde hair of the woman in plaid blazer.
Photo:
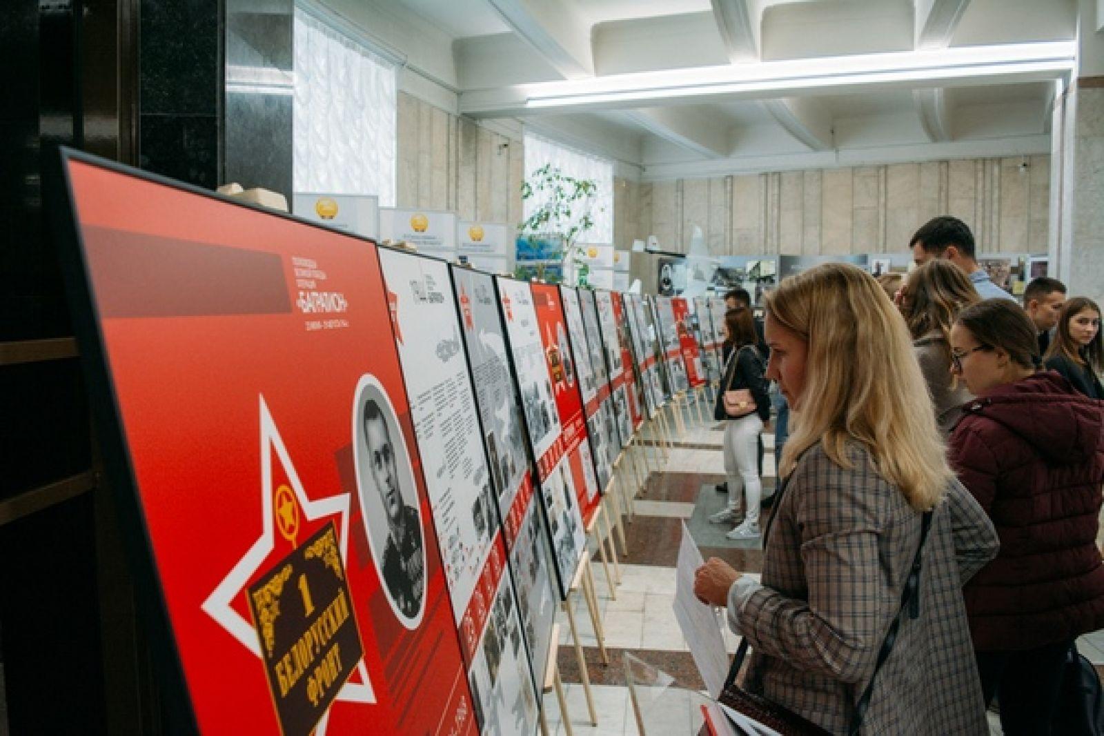
<svg viewBox="0 0 1104 736">
<path fill-rule="evenodd" d="M 804 399 L 779 474 L 817 442 L 850 470 L 847 445 L 857 442 L 913 509 L 932 509 L 954 473 L 909 329 L 878 281 L 856 266 L 825 264 L 786 278 L 766 311 L 808 344 Z"/>
</svg>

